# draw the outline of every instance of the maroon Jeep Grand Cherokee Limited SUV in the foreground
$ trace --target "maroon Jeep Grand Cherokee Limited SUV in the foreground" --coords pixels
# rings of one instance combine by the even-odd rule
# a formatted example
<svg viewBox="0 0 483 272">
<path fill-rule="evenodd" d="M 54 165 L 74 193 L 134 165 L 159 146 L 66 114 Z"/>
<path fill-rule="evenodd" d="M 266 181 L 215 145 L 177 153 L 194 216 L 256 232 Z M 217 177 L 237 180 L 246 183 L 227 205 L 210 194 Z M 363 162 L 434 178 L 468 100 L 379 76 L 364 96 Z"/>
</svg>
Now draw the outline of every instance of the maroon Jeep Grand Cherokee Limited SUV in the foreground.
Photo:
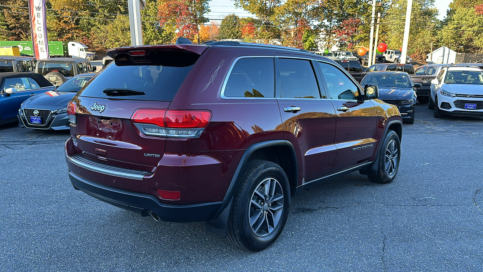
<svg viewBox="0 0 483 272">
<path fill-rule="evenodd" d="M 238 42 L 111 49 L 68 106 L 75 189 L 236 246 L 278 238 L 302 189 L 398 172 L 401 117 L 334 61 Z"/>
</svg>

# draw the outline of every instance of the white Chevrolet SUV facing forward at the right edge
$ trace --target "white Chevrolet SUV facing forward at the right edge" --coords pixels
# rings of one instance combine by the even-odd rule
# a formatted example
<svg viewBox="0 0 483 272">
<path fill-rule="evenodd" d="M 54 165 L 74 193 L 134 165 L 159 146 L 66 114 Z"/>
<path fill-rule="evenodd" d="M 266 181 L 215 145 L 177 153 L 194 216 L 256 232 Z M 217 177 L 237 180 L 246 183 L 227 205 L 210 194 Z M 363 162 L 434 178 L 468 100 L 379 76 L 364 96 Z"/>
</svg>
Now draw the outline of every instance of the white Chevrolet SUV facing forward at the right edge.
<svg viewBox="0 0 483 272">
<path fill-rule="evenodd" d="M 471 67 L 445 67 L 431 80 L 429 109 L 443 114 L 483 117 L 483 71 Z"/>
</svg>

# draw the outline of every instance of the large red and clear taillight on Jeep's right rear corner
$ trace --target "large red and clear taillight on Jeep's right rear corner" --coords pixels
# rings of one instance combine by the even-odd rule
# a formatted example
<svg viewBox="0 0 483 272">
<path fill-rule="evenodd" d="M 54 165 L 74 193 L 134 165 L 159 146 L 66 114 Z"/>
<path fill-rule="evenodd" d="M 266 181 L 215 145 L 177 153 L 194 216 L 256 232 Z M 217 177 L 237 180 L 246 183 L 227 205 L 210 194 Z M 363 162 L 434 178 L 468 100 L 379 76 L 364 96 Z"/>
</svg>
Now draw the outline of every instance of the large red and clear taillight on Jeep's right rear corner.
<svg viewBox="0 0 483 272">
<path fill-rule="evenodd" d="M 208 125 L 211 112 L 142 108 L 136 110 L 131 119 L 144 135 L 197 138 Z"/>
</svg>

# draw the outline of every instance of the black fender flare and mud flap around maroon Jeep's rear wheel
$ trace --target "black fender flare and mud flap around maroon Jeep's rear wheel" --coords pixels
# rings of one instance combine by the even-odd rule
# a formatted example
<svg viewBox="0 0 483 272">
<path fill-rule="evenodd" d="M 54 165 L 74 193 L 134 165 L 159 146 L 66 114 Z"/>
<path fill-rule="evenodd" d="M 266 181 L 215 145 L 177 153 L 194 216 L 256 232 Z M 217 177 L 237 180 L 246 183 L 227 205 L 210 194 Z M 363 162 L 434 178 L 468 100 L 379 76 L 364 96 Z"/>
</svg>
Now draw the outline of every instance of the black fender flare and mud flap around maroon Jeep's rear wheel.
<svg viewBox="0 0 483 272">
<path fill-rule="evenodd" d="M 230 181 L 230 185 L 228 186 L 228 189 L 227 189 L 227 193 L 223 198 L 223 202 L 226 204 L 222 205 L 222 207 L 218 210 L 218 212 L 216 212 L 216 214 L 213 216 L 213 220 L 205 222 L 205 227 L 208 231 L 213 232 L 214 234 L 220 235 L 222 237 L 227 236 L 228 216 L 230 214 L 231 205 L 233 203 L 233 196 L 235 195 L 235 191 L 237 190 L 238 184 L 240 183 L 240 180 L 241 180 L 241 175 L 240 175 L 241 171 L 243 171 L 243 169 L 245 168 L 246 164 L 248 163 L 248 159 L 253 154 L 253 152 L 270 146 L 288 146 L 289 147 L 292 154 L 291 155 L 292 161 L 294 162 L 292 166 L 294 167 L 293 169 L 294 176 L 295 176 L 294 178 L 296 179 L 295 182 L 298 184 L 297 153 L 295 152 L 295 148 L 291 142 L 287 140 L 270 140 L 270 141 L 263 141 L 263 142 L 252 144 L 245 150 L 245 152 L 241 156 L 241 160 L 238 163 L 235 173 L 233 174 L 233 177 Z"/>
</svg>

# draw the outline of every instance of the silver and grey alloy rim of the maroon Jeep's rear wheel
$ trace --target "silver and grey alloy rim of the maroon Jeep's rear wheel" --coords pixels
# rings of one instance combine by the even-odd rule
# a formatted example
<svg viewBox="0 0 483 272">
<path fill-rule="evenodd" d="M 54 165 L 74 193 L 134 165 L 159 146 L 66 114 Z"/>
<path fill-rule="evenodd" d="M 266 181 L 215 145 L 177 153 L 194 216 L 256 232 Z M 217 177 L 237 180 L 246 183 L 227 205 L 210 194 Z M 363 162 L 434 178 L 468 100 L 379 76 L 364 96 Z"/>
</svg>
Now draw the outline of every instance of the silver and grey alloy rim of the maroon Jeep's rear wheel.
<svg viewBox="0 0 483 272">
<path fill-rule="evenodd" d="M 279 224 L 284 210 L 284 191 L 274 178 L 261 181 L 250 199 L 248 218 L 253 233 L 264 237 Z"/>
</svg>

